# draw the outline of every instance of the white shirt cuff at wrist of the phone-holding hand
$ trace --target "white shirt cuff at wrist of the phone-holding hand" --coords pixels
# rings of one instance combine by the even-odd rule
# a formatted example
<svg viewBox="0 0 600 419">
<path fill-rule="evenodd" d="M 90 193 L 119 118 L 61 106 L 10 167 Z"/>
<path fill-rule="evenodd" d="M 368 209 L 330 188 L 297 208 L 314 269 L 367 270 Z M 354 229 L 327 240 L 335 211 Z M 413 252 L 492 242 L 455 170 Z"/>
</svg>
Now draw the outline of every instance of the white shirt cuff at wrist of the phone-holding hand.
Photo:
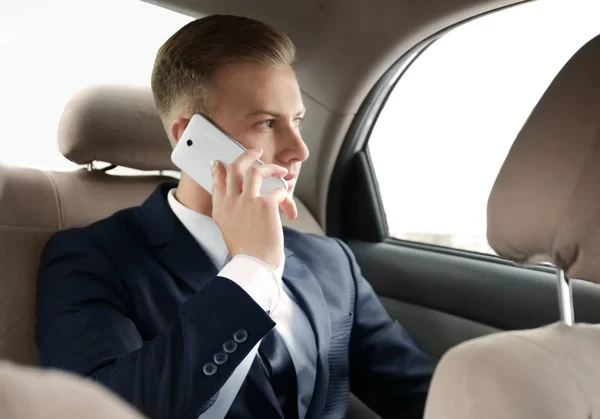
<svg viewBox="0 0 600 419">
<path fill-rule="evenodd" d="M 239 285 L 269 314 L 275 311 L 281 295 L 282 269 L 275 272 L 260 259 L 236 255 L 223 267 L 219 276 Z"/>
</svg>

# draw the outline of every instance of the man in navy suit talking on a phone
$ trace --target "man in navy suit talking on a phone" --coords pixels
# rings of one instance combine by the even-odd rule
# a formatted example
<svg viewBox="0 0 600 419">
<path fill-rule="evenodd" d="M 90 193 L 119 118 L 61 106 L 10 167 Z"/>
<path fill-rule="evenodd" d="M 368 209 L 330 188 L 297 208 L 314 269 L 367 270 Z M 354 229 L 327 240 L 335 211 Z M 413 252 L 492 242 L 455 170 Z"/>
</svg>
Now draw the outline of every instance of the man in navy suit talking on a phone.
<svg viewBox="0 0 600 419">
<path fill-rule="evenodd" d="M 308 158 L 293 65 L 285 34 L 233 16 L 193 21 L 159 49 L 152 90 L 171 142 L 202 112 L 249 150 L 213 162 L 212 195 L 182 173 L 140 207 L 48 242 L 43 365 L 152 418 L 342 419 L 350 390 L 384 417 L 422 412 L 432 363 L 349 248 L 282 228 Z M 260 196 L 269 176 L 288 190 Z"/>
</svg>

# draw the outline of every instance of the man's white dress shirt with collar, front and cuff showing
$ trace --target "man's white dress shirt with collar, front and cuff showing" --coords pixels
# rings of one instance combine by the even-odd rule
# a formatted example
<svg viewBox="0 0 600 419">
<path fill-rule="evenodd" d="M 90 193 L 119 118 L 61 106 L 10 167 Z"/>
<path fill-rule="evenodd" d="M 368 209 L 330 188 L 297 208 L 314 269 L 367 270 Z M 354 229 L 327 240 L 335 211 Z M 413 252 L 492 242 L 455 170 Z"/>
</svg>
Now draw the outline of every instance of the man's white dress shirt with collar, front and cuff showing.
<svg viewBox="0 0 600 419">
<path fill-rule="evenodd" d="M 281 266 L 274 271 L 263 261 L 247 255 L 237 255 L 225 264 L 229 251 L 217 224 L 211 217 L 182 205 L 175 198 L 174 192 L 175 189 L 172 189 L 168 194 L 171 210 L 206 251 L 217 269 L 221 269 L 219 276 L 238 284 L 263 310 L 270 311 L 277 332 L 285 342 L 296 369 L 298 417 L 303 419 L 315 385 L 317 345 L 308 318 L 281 279 L 285 258 L 282 258 Z M 260 342 L 238 365 L 221 387 L 215 403 L 199 419 L 225 417 L 248 375 L 259 346 Z"/>
</svg>

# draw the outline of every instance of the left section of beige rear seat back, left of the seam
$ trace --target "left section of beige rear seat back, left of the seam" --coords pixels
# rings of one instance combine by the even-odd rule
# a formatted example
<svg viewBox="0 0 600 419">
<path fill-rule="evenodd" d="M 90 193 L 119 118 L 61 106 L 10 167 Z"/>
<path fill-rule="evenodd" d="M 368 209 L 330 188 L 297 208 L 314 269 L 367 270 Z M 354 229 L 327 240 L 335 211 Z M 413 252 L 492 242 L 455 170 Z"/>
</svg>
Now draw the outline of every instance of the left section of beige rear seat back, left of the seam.
<svg viewBox="0 0 600 419">
<path fill-rule="evenodd" d="M 35 280 L 40 252 L 58 228 L 55 200 L 43 172 L 0 166 L 0 358 L 37 362 Z"/>
</svg>

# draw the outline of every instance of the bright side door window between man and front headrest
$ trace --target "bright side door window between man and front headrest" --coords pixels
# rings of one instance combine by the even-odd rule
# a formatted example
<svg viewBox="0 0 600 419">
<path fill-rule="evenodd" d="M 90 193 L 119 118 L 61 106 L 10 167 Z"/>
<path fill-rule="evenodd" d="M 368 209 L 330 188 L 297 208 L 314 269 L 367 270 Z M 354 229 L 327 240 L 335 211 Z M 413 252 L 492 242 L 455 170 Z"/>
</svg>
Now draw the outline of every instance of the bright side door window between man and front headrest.
<svg viewBox="0 0 600 419">
<path fill-rule="evenodd" d="M 459 26 L 415 60 L 368 144 L 391 237 L 494 253 L 496 175 L 554 76 L 600 33 L 598 16 L 597 0 L 531 2 Z"/>
</svg>

